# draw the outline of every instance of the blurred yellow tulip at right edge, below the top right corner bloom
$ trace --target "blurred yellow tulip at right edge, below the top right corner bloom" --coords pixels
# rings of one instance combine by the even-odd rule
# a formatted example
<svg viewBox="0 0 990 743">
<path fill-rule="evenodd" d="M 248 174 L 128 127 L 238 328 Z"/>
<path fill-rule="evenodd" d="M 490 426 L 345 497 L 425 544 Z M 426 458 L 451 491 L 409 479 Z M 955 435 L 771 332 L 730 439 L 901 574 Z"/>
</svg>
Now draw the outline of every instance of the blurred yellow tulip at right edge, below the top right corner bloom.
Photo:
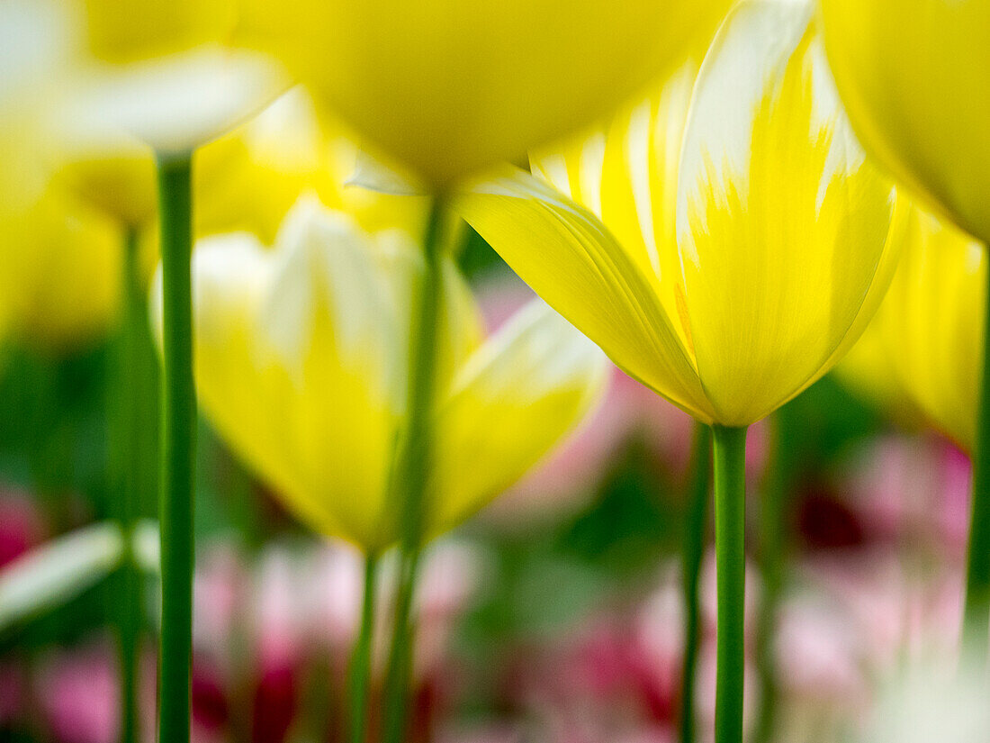
<svg viewBox="0 0 990 743">
<path fill-rule="evenodd" d="M 917 207 L 899 233 L 903 257 L 867 331 L 882 339 L 919 410 L 967 451 L 976 440 L 987 259 L 979 243 Z"/>
</svg>

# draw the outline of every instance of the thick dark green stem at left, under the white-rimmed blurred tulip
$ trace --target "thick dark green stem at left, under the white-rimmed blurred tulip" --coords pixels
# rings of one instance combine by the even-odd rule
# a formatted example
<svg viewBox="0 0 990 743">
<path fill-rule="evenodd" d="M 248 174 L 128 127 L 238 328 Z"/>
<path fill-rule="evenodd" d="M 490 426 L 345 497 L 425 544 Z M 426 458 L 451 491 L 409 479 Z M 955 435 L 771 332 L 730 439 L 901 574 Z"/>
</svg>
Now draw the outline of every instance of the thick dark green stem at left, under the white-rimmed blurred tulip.
<svg viewBox="0 0 990 743">
<path fill-rule="evenodd" d="M 192 665 L 192 159 L 158 160 L 161 221 L 161 643 L 158 741 L 189 740 Z"/>
</svg>

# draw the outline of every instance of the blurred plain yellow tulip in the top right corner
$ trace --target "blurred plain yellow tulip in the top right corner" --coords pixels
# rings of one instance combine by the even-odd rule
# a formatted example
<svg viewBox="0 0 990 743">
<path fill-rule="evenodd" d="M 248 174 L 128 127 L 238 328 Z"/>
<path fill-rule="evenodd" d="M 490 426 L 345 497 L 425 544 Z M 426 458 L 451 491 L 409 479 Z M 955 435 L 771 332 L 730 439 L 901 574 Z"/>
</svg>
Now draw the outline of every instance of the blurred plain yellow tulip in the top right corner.
<svg viewBox="0 0 990 743">
<path fill-rule="evenodd" d="M 990 241 L 990 2 L 822 0 L 863 145 L 940 215 Z"/>
</svg>

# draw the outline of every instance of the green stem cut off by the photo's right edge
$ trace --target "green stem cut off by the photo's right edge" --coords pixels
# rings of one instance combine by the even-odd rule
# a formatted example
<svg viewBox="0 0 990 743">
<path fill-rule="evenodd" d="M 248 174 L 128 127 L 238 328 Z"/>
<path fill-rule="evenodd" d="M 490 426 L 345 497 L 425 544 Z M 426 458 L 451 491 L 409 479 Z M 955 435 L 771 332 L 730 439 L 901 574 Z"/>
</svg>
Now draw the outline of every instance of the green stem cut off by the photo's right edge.
<svg viewBox="0 0 990 743">
<path fill-rule="evenodd" d="M 990 632 L 990 271 L 983 315 L 983 375 L 980 382 L 973 492 L 970 506 L 966 604 L 962 636 L 966 650 L 983 663 Z"/>
</svg>

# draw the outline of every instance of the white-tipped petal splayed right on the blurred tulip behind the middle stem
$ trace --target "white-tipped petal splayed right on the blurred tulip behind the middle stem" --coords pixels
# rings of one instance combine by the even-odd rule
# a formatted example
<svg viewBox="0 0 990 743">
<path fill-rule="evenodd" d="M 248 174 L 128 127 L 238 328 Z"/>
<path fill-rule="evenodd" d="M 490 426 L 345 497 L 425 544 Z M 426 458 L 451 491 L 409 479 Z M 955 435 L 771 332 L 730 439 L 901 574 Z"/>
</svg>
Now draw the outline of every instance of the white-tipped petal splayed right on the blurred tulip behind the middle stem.
<svg viewBox="0 0 990 743">
<path fill-rule="evenodd" d="M 608 370 L 541 300 L 521 309 L 467 360 L 438 411 L 430 530 L 455 526 L 529 471 L 599 400 Z"/>
</svg>

